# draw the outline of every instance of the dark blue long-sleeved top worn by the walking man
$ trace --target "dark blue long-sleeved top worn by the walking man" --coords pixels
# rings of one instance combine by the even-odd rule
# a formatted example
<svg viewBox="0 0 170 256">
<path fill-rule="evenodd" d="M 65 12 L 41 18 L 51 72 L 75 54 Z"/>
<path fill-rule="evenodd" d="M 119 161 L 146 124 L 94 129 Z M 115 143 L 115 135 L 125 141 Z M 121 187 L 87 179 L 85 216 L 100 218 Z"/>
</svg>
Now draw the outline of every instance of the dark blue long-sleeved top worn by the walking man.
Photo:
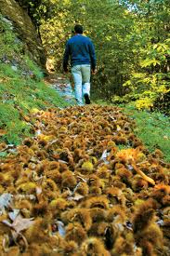
<svg viewBox="0 0 170 256">
<path fill-rule="evenodd" d="M 63 69 L 67 71 L 69 56 L 71 56 L 71 66 L 90 64 L 92 70 L 96 68 L 95 47 L 90 38 L 83 34 L 76 34 L 67 41 Z"/>
</svg>

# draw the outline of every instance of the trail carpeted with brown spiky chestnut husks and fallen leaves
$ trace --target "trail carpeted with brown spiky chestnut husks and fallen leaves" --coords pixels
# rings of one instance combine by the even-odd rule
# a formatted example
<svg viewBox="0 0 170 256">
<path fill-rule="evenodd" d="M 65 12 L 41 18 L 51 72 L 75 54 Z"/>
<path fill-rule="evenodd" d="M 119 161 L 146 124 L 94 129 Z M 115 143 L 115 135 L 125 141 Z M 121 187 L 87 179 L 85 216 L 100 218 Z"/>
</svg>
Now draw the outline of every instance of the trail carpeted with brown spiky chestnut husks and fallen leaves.
<svg viewBox="0 0 170 256">
<path fill-rule="evenodd" d="M 2 255 L 170 255 L 170 165 L 132 119 L 93 104 L 33 119 L 34 137 L 0 160 Z"/>
</svg>

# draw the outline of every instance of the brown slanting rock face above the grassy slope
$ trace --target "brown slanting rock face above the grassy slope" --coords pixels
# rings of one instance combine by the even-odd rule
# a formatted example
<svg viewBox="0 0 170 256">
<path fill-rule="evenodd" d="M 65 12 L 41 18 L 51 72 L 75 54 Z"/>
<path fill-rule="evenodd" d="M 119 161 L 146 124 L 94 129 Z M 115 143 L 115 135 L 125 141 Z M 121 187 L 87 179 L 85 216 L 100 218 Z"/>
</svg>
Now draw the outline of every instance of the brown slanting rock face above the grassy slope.
<svg viewBox="0 0 170 256">
<path fill-rule="evenodd" d="M 45 68 L 45 50 L 26 10 L 15 0 L 0 0 L 0 12 L 12 21 L 20 40 L 24 43 L 25 51 L 29 52 L 33 61 Z"/>
</svg>

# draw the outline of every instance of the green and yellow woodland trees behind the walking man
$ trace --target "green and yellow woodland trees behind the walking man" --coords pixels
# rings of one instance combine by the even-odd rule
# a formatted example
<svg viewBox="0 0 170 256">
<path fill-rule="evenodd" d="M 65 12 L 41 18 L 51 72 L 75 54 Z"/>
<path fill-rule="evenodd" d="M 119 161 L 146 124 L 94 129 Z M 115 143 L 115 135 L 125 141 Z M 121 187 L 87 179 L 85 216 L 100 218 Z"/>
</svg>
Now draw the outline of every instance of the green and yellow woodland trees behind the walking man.
<svg viewBox="0 0 170 256">
<path fill-rule="evenodd" d="M 76 23 L 95 44 L 93 88 L 106 99 L 154 105 L 169 91 L 170 10 L 167 0 L 30 0 L 48 58 L 62 66 L 65 43 Z M 123 97 L 124 96 L 124 97 Z M 146 104 L 145 104 L 146 101 Z"/>
</svg>

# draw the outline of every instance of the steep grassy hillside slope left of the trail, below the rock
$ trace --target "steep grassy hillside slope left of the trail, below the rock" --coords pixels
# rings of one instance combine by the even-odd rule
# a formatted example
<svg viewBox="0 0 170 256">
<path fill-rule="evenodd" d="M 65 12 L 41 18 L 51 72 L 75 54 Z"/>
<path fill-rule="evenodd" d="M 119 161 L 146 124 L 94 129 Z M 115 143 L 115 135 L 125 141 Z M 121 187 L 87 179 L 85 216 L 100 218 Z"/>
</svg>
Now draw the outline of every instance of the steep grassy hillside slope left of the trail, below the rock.
<svg viewBox="0 0 170 256">
<path fill-rule="evenodd" d="M 0 141 L 18 144 L 33 135 L 29 114 L 67 103 L 43 82 L 43 71 L 25 52 L 12 22 L 0 16 L 0 28 Z"/>
</svg>

